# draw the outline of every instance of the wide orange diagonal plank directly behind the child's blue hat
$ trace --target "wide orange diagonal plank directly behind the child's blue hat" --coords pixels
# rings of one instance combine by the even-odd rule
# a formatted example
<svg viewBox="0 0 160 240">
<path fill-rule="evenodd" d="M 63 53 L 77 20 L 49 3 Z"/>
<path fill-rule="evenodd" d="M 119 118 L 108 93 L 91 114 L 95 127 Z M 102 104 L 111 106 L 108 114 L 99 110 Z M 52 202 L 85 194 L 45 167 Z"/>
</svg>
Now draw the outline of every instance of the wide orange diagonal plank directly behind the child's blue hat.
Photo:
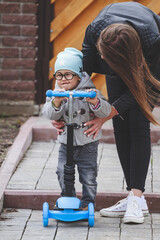
<svg viewBox="0 0 160 240">
<path fill-rule="evenodd" d="M 121 0 L 123 1 L 123 0 Z M 81 50 L 82 42 L 87 25 L 93 21 L 95 16 L 106 5 L 112 3 L 112 0 L 97 0 L 90 4 L 89 8 L 85 9 L 64 31 L 54 40 L 53 58 L 49 63 L 49 79 L 54 74 L 54 63 L 56 55 L 63 51 L 66 47 L 75 47 Z M 56 2 L 58 4 L 58 2 Z M 55 4 L 55 7 L 56 7 Z M 62 12 L 62 11 L 61 11 Z"/>
</svg>

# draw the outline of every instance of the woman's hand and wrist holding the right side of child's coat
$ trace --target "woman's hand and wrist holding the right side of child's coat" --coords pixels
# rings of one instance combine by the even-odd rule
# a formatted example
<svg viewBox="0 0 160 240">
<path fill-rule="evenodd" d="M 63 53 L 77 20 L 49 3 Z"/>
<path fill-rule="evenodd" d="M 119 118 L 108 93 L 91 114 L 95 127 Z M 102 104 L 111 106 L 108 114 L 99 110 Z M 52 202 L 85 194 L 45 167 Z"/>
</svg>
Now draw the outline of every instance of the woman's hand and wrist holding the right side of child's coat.
<svg viewBox="0 0 160 240">
<path fill-rule="evenodd" d="M 113 118 L 116 115 L 117 115 L 117 111 L 115 110 L 114 107 L 111 107 L 111 112 L 110 112 L 108 117 L 106 117 L 106 118 L 97 118 L 97 117 L 95 117 L 93 120 L 86 122 L 85 126 L 90 126 L 90 125 L 92 125 L 92 126 L 90 128 L 88 128 L 84 132 L 84 134 L 86 134 L 88 137 L 93 135 L 93 139 L 95 139 L 96 136 L 98 135 L 100 129 L 102 128 L 102 125 L 106 121 L 108 121 L 109 119 Z"/>
</svg>

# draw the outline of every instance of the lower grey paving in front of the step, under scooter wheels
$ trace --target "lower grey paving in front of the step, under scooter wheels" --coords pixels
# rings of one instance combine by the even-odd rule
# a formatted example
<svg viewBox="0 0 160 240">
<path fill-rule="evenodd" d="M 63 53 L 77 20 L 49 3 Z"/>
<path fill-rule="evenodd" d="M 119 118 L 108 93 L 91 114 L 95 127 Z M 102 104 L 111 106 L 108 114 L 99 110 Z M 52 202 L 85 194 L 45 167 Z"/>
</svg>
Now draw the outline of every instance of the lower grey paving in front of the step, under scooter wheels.
<svg viewBox="0 0 160 240">
<path fill-rule="evenodd" d="M 145 217 L 145 223 L 126 225 L 121 218 L 100 217 L 95 213 L 95 225 L 84 221 L 64 223 L 53 219 L 42 226 L 42 211 L 4 209 L 0 216 L 2 240 L 159 240 L 160 214 Z"/>
</svg>

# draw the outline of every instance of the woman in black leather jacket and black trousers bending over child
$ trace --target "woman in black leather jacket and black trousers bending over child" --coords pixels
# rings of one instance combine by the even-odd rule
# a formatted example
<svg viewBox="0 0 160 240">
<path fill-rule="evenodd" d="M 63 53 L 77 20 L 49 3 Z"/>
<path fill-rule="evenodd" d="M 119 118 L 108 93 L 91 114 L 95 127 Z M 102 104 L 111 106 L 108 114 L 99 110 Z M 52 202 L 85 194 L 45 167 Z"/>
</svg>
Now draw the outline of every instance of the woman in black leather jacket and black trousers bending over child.
<svg viewBox="0 0 160 240">
<path fill-rule="evenodd" d="M 160 101 L 156 80 L 160 80 L 159 29 L 160 17 L 148 8 L 136 2 L 115 3 L 106 6 L 87 27 L 83 42 L 83 70 L 106 75 L 112 104 L 109 117 L 86 123 L 92 126 L 85 134 L 96 137 L 103 123 L 113 119 L 129 191 L 127 198 L 100 213 L 124 216 L 124 223 L 143 223 L 148 213 L 143 192 L 151 151 L 150 122 L 157 124 L 152 109 Z"/>
</svg>

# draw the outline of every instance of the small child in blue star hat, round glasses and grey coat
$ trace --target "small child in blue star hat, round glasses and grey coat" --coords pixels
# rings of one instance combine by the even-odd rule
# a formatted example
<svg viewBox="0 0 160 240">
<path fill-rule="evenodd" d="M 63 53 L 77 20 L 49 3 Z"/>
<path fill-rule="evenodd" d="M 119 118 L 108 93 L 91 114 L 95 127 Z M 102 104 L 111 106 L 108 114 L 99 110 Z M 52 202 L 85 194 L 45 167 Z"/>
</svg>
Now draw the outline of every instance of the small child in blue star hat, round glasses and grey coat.
<svg viewBox="0 0 160 240">
<path fill-rule="evenodd" d="M 65 48 L 63 52 L 57 55 L 55 62 L 56 90 L 95 90 L 95 86 L 87 73 L 82 72 L 83 54 L 75 48 Z M 74 98 L 73 100 L 73 119 L 80 127 L 74 129 L 73 133 L 73 159 L 77 164 L 79 172 L 79 181 L 82 184 L 82 208 L 88 207 L 92 202 L 95 204 L 97 192 L 97 150 L 101 132 L 95 139 L 84 134 L 87 127 L 84 124 L 97 116 L 99 118 L 107 117 L 110 114 L 111 107 L 102 94 L 96 91 L 96 97 Z M 68 99 L 64 97 L 46 98 L 43 108 L 43 115 L 51 120 L 62 120 L 68 122 Z M 58 135 L 58 141 L 61 143 L 58 157 L 57 175 L 64 195 L 64 165 L 67 156 L 67 134 L 66 126 L 63 133 Z"/>
</svg>

